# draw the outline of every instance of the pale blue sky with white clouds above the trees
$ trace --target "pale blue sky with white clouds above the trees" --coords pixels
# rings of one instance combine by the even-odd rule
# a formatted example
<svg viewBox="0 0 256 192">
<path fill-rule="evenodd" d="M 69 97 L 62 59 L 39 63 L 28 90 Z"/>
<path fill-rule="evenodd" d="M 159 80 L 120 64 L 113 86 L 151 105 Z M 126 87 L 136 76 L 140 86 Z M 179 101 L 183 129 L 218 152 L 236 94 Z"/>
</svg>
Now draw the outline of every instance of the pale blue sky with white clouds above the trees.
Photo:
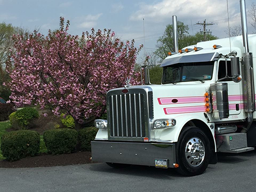
<svg viewBox="0 0 256 192">
<path fill-rule="evenodd" d="M 247 10 L 252 3 L 256 4 L 256 0 L 246 0 Z M 230 27 L 241 25 L 239 0 L 228 0 L 228 5 Z M 47 35 L 49 29 L 59 28 L 59 18 L 64 17 L 70 21 L 72 35 L 91 28 L 111 29 L 123 41 L 135 39 L 138 47 L 145 44 L 142 53 L 156 50 L 158 37 L 166 25 L 172 24 L 172 15 L 189 26 L 191 35 L 203 30 L 203 26 L 195 24 L 206 19 L 206 23 L 214 23 L 206 28 L 212 35 L 228 37 L 226 0 L 0 0 L 0 22 L 30 31 L 39 28 Z M 249 11 L 247 22 L 249 34 L 254 33 Z M 143 57 L 142 53 L 139 57 Z"/>
</svg>

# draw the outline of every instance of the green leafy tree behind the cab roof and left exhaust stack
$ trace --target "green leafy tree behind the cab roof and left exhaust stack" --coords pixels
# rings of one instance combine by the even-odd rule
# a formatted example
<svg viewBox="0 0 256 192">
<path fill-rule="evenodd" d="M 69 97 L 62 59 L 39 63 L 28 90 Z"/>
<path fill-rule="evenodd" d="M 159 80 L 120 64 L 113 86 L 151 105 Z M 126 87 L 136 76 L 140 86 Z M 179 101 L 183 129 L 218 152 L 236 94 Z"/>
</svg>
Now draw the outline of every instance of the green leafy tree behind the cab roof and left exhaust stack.
<svg viewBox="0 0 256 192">
<path fill-rule="evenodd" d="M 200 32 L 197 32 L 195 35 L 189 35 L 188 25 L 184 25 L 183 22 L 178 21 L 178 44 L 179 49 L 189 45 L 195 45 L 198 42 L 204 41 L 204 35 Z M 218 37 L 211 34 L 206 34 L 206 40 L 217 39 Z M 167 25 L 164 31 L 164 34 L 157 39 L 157 50 L 155 54 L 163 61 L 167 56 L 168 52 L 174 51 L 173 49 L 173 27 L 172 25 Z"/>
</svg>

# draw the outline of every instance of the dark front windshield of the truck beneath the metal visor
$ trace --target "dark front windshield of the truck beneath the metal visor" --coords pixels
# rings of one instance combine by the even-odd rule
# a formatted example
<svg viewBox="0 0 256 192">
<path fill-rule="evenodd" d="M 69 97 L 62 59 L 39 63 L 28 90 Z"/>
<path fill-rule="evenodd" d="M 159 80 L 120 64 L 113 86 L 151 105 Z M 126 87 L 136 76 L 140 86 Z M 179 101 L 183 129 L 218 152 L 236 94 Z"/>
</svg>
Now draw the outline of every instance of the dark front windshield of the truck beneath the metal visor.
<svg viewBox="0 0 256 192">
<path fill-rule="evenodd" d="M 212 79 L 214 61 L 177 63 L 164 67 L 163 84 Z"/>
</svg>

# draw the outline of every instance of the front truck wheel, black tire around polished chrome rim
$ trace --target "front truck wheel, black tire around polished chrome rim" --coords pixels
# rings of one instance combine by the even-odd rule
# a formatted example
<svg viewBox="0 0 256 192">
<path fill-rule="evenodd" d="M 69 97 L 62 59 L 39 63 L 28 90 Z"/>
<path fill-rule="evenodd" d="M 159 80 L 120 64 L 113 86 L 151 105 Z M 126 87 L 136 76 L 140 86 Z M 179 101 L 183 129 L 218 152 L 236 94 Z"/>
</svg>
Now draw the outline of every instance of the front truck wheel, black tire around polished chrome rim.
<svg viewBox="0 0 256 192">
<path fill-rule="evenodd" d="M 202 174 L 211 157 L 210 141 L 197 127 L 186 127 L 180 134 L 176 148 L 177 171 L 185 176 Z"/>
</svg>

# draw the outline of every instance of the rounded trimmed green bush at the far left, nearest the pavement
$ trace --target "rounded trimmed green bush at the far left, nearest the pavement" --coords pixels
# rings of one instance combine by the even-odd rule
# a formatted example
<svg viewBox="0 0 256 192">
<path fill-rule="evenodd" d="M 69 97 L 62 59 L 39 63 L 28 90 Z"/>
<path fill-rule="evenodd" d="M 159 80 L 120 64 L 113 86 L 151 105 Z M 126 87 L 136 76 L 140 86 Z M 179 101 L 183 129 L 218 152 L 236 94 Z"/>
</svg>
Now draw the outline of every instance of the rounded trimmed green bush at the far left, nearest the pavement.
<svg viewBox="0 0 256 192">
<path fill-rule="evenodd" d="M 35 131 L 21 130 L 5 133 L 1 138 L 1 150 L 7 161 L 17 161 L 35 156 L 40 150 L 40 136 Z"/>
</svg>

